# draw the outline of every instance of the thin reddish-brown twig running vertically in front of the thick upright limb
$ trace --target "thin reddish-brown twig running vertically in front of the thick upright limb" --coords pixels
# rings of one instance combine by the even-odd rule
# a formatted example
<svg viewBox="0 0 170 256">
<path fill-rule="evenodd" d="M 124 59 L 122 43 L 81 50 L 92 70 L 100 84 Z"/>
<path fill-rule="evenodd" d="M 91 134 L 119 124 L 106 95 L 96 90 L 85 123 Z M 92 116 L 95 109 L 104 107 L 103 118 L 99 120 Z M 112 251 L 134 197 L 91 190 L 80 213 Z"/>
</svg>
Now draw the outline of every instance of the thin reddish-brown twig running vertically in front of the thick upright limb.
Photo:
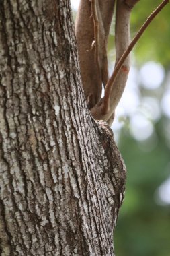
<svg viewBox="0 0 170 256">
<path fill-rule="evenodd" d="M 91 14 L 93 17 L 94 24 L 94 38 L 95 38 L 95 62 L 100 67 L 100 59 L 99 59 L 99 18 L 97 14 L 97 0 L 91 0 Z"/>
</svg>

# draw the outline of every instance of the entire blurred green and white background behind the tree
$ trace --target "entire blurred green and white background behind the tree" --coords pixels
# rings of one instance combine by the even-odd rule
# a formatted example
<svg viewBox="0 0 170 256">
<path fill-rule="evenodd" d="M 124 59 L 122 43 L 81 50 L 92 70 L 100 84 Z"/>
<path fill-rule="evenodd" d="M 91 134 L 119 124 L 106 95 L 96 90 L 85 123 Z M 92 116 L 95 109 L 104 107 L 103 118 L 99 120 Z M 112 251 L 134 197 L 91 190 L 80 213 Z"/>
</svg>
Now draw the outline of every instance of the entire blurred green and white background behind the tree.
<svg viewBox="0 0 170 256">
<path fill-rule="evenodd" d="M 161 0 L 142 0 L 131 16 L 134 37 Z M 72 0 L 75 18 L 78 0 Z M 112 129 L 126 167 L 126 196 L 114 234 L 118 256 L 170 256 L 170 5 L 131 53 L 132 67 Z M 108 42 L 114 68 L 114 19 Z"/>
</svg>

